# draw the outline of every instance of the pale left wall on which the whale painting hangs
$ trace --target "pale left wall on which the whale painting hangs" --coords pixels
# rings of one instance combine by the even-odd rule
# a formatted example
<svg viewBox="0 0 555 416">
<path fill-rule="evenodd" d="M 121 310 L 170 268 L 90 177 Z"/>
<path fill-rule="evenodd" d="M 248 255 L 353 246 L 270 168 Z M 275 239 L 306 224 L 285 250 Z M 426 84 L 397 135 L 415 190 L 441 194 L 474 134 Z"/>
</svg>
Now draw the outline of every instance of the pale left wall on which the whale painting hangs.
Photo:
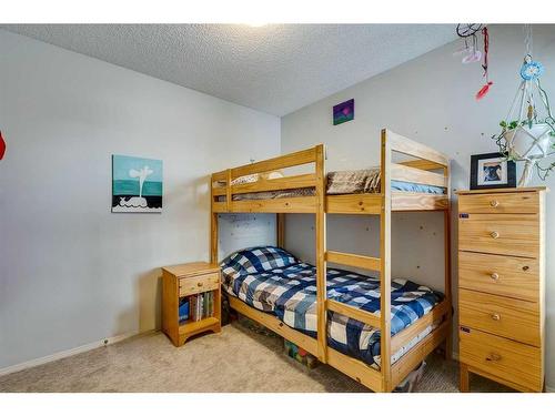
<svg viewBox="0 0 555 416">
<path fill-rule="evenodd" d="M 158 267 L 208 260 L 208 174 L 280 120 L 2 30 L 0 57 L 0 368 L 154 328 Z M 163 160 L 162 214 L 110 213 L 113 153 Z"/>
</svg>

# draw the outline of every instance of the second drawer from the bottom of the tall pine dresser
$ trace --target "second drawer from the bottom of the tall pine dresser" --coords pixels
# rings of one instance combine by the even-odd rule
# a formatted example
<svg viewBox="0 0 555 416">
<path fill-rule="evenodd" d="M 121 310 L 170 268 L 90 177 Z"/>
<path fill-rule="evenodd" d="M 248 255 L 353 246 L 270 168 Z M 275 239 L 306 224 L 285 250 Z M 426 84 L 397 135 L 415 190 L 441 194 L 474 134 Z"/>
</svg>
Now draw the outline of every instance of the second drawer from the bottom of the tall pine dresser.
<svg viewBox="0 0 555 416">
<path fill-rule="evenodd" d="M 541 346 L 539 306 L 534 302 L 512 300 L 480 292 L 458 291 L 461 325 Z"/>
</svg>

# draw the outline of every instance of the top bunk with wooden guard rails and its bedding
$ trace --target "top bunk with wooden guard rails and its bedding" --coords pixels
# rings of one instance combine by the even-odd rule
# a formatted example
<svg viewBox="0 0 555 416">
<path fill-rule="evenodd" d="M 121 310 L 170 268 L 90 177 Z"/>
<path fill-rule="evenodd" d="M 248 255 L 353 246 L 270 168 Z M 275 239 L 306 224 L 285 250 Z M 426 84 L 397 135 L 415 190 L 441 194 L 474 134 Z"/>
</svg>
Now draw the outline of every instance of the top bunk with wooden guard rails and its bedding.
<svg viewBox="0 0 555 416">
<path fill-rule="evenodd" d="M 396 158 L 403 161 L 393 162 Z M 325 148 L 313 148 L 211 176 L 213 213 L 381 214 L 446 211 L 450 160 L 411 139 L 382 130 L 381 164 L 359 171 L 325 171 Z M 299 168 L 309 173 L 299 174 Z M 284 171 L 293 171 L 284 174 Z"/>
</svg>

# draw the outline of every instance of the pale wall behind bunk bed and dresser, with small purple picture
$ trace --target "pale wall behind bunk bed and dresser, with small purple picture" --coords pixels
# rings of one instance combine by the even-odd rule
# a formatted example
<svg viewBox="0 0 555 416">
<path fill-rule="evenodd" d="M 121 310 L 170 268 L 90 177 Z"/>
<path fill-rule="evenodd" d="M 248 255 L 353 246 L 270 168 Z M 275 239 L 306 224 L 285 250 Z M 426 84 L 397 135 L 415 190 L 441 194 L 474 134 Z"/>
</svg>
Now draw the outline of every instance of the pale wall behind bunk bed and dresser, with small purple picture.
<svg viewBox="0 0 555 416">
<path fill-rule="evenodd" d="M 491 27 L 490 34 L 490 74 L 494 84 L 483 101 L 473 98 L 483 84 L 481 68 L 463 65 L 460 58 L 453 57 L 461 45 L 457 41 L 284 116 L 282 152 L 323 142 L 329 148 L 330 170 L 371 166 L 379 163 L 380 129 L 386 126 L 452 156 L 453 190 L 467 189 L 471 154 L 496 151 L 488 138 L 497 133 L 498 122 L 508 112 L 524 55 L 521 26 Z M 534 57 L 546 68 L 542 85 L 555 102 L 555 27 L 534 27 Z M 332 106 L 351 98 L 355 99 L 355 120 L 332 125 Z M 541 184 L 544 183 L 535 179 L 534 185 Z M 555 174 L 545 184 L 555 191 Z M 555 387 L 555 219 L 549 217 L 553 210 L 555 192 L 547 194 L 546 239 L 546 379 L 548 386 Z M 456 219 L 452 222 L 456 236 Z M 312 222 L 302 215 L 287 217 L 286 246 L 305 258 L 313 256 L 311 226 Z M 377 223 L 367 219 L 331 219 L 329 245 L 371 254 L 377 247 Z M 393 275 L 442 288 L 441 215 L 395 214 L 392 234 Z M 454 255 L 453 260 L 456 261 Z M 453 270 L 456 271 L 456 264 Z M 453 280 L 456 292 L 456 273 Z"/>
</svg>

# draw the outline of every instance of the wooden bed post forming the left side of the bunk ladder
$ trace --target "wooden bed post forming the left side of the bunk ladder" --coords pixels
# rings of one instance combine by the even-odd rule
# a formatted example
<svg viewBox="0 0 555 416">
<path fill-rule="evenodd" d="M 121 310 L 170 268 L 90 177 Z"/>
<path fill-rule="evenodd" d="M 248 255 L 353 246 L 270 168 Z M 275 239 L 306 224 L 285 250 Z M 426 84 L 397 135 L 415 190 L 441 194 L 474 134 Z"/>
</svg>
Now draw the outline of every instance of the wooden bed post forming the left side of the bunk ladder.
<svg viewBox="0 0 555 416">
<path fill-rule="evenodd" d="M 325 307 L 325 148 L 319 144 L 316 153 L 316 310 L 317 310 L 317 359 L 327 363 L 327 313 Z"/>
</svg>

